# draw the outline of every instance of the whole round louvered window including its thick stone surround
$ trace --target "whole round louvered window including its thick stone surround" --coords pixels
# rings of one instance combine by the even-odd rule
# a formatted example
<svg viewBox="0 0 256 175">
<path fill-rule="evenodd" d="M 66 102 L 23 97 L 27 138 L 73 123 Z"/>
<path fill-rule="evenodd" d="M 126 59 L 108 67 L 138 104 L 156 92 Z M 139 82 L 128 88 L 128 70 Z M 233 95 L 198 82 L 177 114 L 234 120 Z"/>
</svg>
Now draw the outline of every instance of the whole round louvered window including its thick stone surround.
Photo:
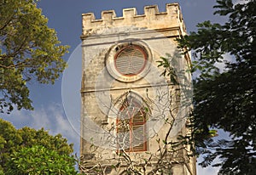
<svg viewBox="0 0 256 175">
<path fill-rule="evenodd" d="M 106 54 L 108 73 L 120 82 L 135 82 L 148 74 L 152 54 L 142 41 L 114 44 Z"/>
</svg>

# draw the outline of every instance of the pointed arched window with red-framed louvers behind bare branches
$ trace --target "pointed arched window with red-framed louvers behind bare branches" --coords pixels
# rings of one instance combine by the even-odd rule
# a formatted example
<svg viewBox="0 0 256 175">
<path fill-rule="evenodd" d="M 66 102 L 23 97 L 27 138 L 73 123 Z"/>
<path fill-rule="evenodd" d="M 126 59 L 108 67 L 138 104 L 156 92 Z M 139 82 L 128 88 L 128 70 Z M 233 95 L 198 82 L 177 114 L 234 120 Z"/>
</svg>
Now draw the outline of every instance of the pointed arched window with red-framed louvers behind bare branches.
<svg viewBox="0 0 256 175">
<path fill-rule="evenodd" d="M 125 99 L 119 109 L 116 125 L 119 150 L 147 150 L 146 116 L 145 107 L 137 99 Z"/>
</svg>

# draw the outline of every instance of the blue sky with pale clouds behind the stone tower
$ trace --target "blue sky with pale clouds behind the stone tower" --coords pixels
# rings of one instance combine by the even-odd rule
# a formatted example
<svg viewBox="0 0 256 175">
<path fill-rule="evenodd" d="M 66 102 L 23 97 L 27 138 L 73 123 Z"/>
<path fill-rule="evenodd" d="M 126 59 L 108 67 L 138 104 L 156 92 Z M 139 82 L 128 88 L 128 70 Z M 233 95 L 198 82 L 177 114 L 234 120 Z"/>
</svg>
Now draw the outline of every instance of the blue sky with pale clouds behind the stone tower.
<svg viewBox="0 0 256 175">
<path fill-rule="evenodd" d="M 61 133 L 69 142 L 74 143 L 75 152 L 79 153 L 79 118 L 80 118 L 80 78 L 81 78 L 81 14 L 93 12 L 97 19 L 101 11 L 114 9 L 117 16 L 123 8 L 137 8 L 143 14 L 143 7 L 157 4 L 160 11 L 165 11 L 166 3 L 179 3 L 187 31 L 196 31 L 196 24 L 204 20 L 223 22 L 224 18 L 213 15 L 214 0 L 41 0 L 38 7 L 49 19 L 49 27 L 55 28 L 62 44 L 69 45 L 69 54 L 64 56 L 68 68 L 55 85 L 42 85 L 37 82 L 28 84 L 35 110 L 14 110 L 9 116 L 3 116 L 15 127 L 44 127 L 49 133 Z M 198 168 L 198 175 L 217 174 L 216 168 Z"/>
</svg>

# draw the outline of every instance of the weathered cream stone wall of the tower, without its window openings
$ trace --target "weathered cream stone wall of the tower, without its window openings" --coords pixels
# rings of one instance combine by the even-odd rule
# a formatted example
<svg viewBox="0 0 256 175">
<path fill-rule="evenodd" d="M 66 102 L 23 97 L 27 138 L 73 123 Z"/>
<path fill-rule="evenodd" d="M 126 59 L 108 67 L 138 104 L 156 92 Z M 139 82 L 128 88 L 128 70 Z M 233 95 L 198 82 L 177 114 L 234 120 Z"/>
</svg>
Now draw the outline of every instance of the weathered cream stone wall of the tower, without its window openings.
<svg viewBox="0 0 256 175">
<path fill-rule="evenodd" d="M 94 14 L 83 14 L 80 155 L 83 157 L 84 166 L 94 167 L 100 162 L 106 167 L 120 161 L 117 160 L 118 150 L 115 147 L 114 116 L 118 113 L 118 100 L 126 93 L 138 94 L 143 99 L 143 103 L 152 109 L 150 114 L 148 112 L 147 152 L 152 154 L 157 152 L 159 147 L 155 140 L 165 138 L 168 125 L 164 122 L 156 122 L 154 117 L 160 114 L 169 117 L 170 106 L 174 116 L 184 112 L 178 110 L 181 109 L 179 105 L 182 101 L 178 95 L 181 93 L 180 87 L 169 78 L 160 76 L 164 70 L 158 67 L 157 61 L 161 60 L 160 57 L 174 59 L 173 67 L 176 72 L 189 68 L 189 55 L 179 54 L 175 41 L 182 35 L 185 35 L 185 27 L 177 3 L 166 4 L 166 12 L 159 12 L 157 6 L 147 6 L 144 8 L 144 14 L 140 15 L 137 14 L 136 8 L 125 8 L 122 17 L 116 17 L 113 10 L 102 11 L 100 20 L 96 20 Z M 129 77 L 111 71 L 112 54 L 115 48 L 124 44 L 147 49 L 148 65 L 147 70 L 142 74 Z M 190 79 L 189 74 L 183 76 Z M 179 82 L 183 82 L 183 76 L 179 76 Z M 164 107 L 161 106 L 162 109 L 160 102 L 157 102 L 160 96 L 162 103 L 166 103 Z M 167 99 L 163 98 L 164 96 Z M 174 127 L 170 139 L 175 141 L 178 134 L 186 132 L 183 126 Z M 143 160 L 150 156 L 146 152 L 128 154 L 131 159 L 139 163 L 143 163 Z M 175 174 L 195 174 L 195 162 L 184 158 L 185 154 L 181 151 L 173 160 L 177 162 L 186 160 L 189 166 L 177 164 L 172 170 Z M 125 161 L 121 160 L 121 162 Z M 122 166 L 125 167 L 125 163 Z M 109 170 L 109 174 L 116 173 Z"/>
</svg>

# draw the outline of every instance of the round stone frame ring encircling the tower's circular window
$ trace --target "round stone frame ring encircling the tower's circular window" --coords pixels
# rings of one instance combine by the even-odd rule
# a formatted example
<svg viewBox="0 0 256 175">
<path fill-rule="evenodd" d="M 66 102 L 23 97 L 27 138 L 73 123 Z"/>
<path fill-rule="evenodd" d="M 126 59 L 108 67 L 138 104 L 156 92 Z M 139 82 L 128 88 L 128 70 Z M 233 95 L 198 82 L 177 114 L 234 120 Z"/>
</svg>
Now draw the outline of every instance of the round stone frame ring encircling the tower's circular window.
<svg viewBox="0 0 256 175">
<path fill-rule="evenodd" d="M 145 59 L 141 69 L 132 75 L 125 75 L 123 72 L 119 71 L 119 68 L 116 65 L 116 59 L 118 58 L 119 54 L 125 51 L 126 48 L 138 49 L 143 54 L 143 59 Z M 113 45 L 109 49 L 106 57 L 106 67 L 108 73 L 116 80 L 120 82 L 135 82 L 148 74 L 151 60 L 152 54 L 144 42 L 121 42 Z"/>
</svg>

